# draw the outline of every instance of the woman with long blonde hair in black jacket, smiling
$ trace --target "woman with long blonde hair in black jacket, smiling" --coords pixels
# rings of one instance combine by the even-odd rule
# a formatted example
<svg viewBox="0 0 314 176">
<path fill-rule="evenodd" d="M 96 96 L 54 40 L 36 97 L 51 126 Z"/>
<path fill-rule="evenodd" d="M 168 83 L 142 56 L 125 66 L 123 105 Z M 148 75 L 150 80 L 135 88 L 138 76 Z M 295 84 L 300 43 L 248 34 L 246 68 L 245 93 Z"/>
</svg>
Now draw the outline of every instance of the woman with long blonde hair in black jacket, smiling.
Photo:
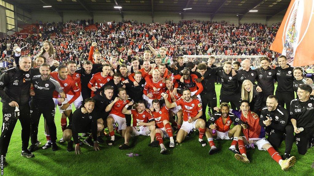
<svg viewBox="0 0 314 176">
<path fill-rule="evenodd" d="M 256 85 L 250 80 L 244 80 L 241 87 L 241 98 L 250 102 L 250 110 L 261 114 L 263 106 L 263 93 L 256 91 Z"/>
</svg>

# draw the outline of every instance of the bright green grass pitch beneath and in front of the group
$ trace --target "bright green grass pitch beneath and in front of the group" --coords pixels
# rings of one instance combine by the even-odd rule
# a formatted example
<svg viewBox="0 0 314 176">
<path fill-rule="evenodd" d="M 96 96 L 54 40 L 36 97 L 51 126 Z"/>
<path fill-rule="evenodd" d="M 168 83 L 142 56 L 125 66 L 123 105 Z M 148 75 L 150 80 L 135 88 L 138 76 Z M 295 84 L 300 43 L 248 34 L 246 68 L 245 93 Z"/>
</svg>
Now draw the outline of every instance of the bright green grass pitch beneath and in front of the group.
<svg viewBox="0 0 314 176">
<path fill-rule="evenodd" d="M 221 85 L 216 85 L 219 99 Z M 2 106 L 0 106 L 2 108 Z M 2 114 L 2 113 L 1 113 Z M 57 137 L 62 137 L 60 127 L 60 114 L 56 113 Z M 2 118 L 0 118 L 2 124 Z M 43 117 L 39 124 L 38 139 L 42 145 L 46 143 L 44 135 Z M 82 154 L 75 155 L 67 152 L 67 143 L 60 144 L 59 150 L 52 152 L 51 148 L 39 149 L 34 152 L 34 158 L 24 158 L 21 153 L 21 125 L 17 122 L 8 149 L 8 166 L 4 168 L 4 175 L 314 175 L 314 169 L 310 167 L 314 160 L 313 148 L 306 155 L 299 155 L 295 144 L 291 154 L 297 159 L 295 166 L 284 172 L 267 151 L 259 151 L 257 148 L 248 149 L 247 155 L 251 163 L 244 164 L 237 161 L 234 154 L 228 150 L 231 140 L 215 140 L 220 149 L 218 153 L 209 155 L 209 145 L 202 147 L 198 142 L 198 132 L 192 133 L 182 144 L 174 149 L 169 148 L 169 139 L 164 139 L 168 154 L 161 155 L 160 147 L 150 148 L 149 137 L 139 136 L 131 139 L 133 147 L 128 150 L 119 150 L 118 146 L 124 143 L 124 139 L 116 135 L 113 146 L 100 144 L 100 151 L 93 151 L 92 147 L 81 146 Z M 204 137 L 204 140 L 205 137 Z M 284 142 L 279 148 L 279 153 L 284 153 Z M 139 157 L 128 157 L 126 153 L 139 153 Z"/>
</svg>

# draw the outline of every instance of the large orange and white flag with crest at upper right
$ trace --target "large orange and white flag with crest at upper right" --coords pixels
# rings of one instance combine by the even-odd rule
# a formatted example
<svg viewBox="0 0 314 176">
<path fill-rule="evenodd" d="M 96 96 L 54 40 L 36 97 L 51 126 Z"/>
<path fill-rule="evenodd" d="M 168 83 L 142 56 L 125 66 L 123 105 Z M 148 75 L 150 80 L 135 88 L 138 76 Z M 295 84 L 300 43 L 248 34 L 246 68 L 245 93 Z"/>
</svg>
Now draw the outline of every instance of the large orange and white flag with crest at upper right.
<svg viewBox="0 0 314 176">
<path fill-rule="evenodd" d="M 291 0 L 270 50 L 287 57 L 287 64 L 314 64 L 314 0 Z"/>
</svg>

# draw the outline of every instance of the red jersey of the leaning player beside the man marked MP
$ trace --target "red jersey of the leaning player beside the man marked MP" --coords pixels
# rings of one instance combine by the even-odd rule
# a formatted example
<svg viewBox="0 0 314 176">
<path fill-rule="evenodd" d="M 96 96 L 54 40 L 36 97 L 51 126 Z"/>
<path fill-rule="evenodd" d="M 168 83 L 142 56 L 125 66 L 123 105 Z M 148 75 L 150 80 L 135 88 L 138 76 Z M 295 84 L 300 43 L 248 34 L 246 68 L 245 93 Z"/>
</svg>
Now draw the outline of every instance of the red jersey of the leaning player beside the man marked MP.
<svg viewBox="0 0 314 176">
<path fill-rule="evenodd" d="M 61 80 L 58 75 L 59 75 L 58 72 L 50 73 L 50 76 L 60 83 L 64 93 L 65 94 L 69 94 L 69 92 L 73 93 L 73 95 L 76 95 L 76 96 L 74 96 L 72 99 L 73 101 L 76 100 L 81 95 L 80 88 L 78 87 L 78 83 L 75 82 L 69 75 L 65 80 Z M 53 91 L 53 98 L 58 98 L 58 94 L 59 93 L 57 91 Z M 72 94 L 69 94 L 69 95 L 72 95 Z M 70 104 L 73 102 L 72 99 L 71 101 L 69 100 Z"/>
</svg>

